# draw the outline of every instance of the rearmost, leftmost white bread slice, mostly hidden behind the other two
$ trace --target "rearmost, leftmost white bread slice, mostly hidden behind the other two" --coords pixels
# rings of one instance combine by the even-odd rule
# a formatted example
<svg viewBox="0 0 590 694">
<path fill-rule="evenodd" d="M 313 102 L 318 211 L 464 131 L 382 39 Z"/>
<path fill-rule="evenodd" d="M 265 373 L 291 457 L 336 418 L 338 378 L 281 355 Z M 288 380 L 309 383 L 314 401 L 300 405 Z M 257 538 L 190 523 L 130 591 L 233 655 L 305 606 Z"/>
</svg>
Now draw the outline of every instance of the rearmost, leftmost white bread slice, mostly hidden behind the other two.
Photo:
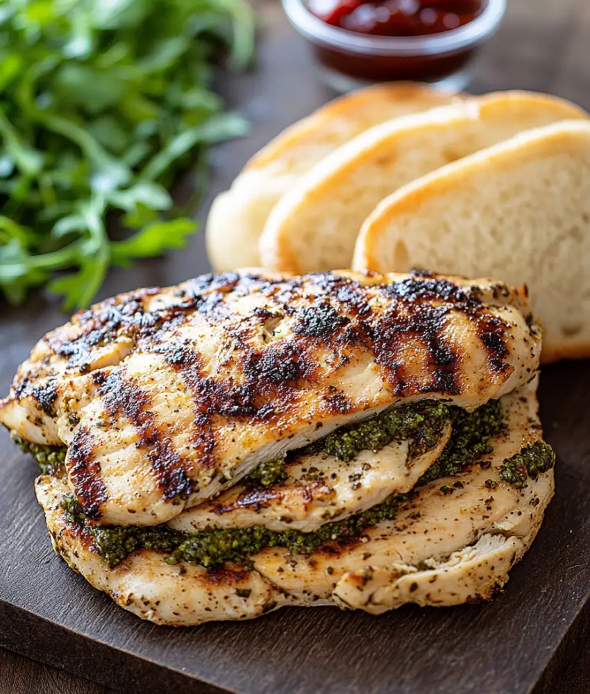
<svg viewBox="0 0 590 694">
<path fill-rule="evenodd" d="M 258 237 L 273 206 L 341 144 L 378 123 L 459 98 L 413 83 L 378 85 L 341 96 L 284 130 L 214 200 L 206 230 L 213 268 L 260 265 Z"/>
</svg>

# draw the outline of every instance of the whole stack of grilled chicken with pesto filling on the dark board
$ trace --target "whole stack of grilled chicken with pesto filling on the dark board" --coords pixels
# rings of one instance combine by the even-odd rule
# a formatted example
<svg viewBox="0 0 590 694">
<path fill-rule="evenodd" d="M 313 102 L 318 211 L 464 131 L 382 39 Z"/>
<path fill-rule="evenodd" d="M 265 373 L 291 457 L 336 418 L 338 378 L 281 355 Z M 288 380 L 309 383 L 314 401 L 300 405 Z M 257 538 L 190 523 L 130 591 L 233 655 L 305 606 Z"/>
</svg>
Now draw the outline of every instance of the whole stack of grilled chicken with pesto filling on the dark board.
<svg viewBox="0 0 590 694">
<path fill-rule="evenodd" d="M 0 422 L 42 464 L 56 551 L 156 623 L 459 604 L 553 493 L 540 351 L 500 282 L 203 276 L 49 333 Z"/>
</svg>

